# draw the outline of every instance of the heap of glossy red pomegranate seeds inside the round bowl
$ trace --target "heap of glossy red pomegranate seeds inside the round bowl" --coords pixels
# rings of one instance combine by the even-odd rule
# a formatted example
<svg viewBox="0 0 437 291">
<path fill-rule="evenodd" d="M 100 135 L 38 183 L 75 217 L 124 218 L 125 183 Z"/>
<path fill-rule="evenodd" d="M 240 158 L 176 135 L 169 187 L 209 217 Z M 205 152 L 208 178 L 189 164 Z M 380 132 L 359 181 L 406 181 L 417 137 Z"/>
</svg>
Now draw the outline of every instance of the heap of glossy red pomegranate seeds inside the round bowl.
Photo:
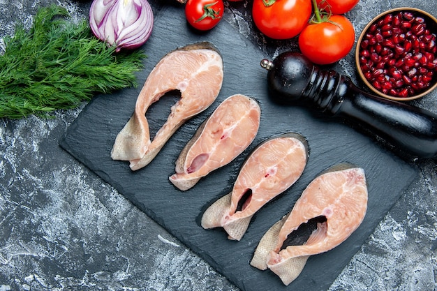
<svg viewBox="0 0 437 291">
<path fill-rule="evenodd" d="M 394 97 L 409 97 L 429 87 L 437 72 L 436 33 L 410 11 L 390 13 L 372 24 L 360 44 L 366 80 Z"/>
</svg>

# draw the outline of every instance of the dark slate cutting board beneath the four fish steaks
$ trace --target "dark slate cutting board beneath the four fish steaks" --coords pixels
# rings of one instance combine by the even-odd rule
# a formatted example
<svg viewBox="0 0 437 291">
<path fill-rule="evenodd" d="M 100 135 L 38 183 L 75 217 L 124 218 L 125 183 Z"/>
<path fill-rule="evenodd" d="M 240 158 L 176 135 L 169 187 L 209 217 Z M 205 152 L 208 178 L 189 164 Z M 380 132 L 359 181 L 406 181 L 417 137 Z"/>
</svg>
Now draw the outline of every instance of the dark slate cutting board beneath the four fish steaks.
<svg viewBox="0 0 437 291">
<path fill-rule="evenodd" d="M 131 172 L 128 162 L 112 161 L 114 139 L 131 117 L 150 70 L 166 53 L 200 40 L 214 43 L 223 57 L 223 88 L 216 102 L 179 128 L 154 161 L 142 170 Z M 302 107 L 272 103 L 267 92 L 267 72 L 260 67 L 265 56 L 224 21 L 208 33 L 195 33 L 188 29 L 181 8 L 157 9 L 153 34 L 143 49 L 148 58 L 145 70 L 138 74 L 140 86 L 96 96 L 68 128 L 59 142 L 61 147 L 242 290 L 327 290 L 411 183 L 416 174 L 413 168 L 348 124 L 320 117 Z M 175 171 L 175 161 L 184 144 L 218 103 L 232 94 L 246 94 L 260 102 L 261 125 L 255 141 L 235 161 L 201 179 L 191 190 L 177 190 L 168 177 Z M 148 110 L 152 133 L 167 119 L 177 97 L 176 93 L 168 94 Z M 309 163 L 299 181 L 255 214 L 241 241 L 228 240 L 221 229 L 203 230 L 202 211 L 230 191 L 247 154 L 258 142 L 286 131 L 301 133 L 309 142 Z M 369 205 L 359 229 L 334 250 L 312 256 L 302 274 L 288 287 L 271 271 L 251 267 L 249 262 L 262 234 L 290 211 L 317 174 L 341 162 L 354 163 L 366 172 Z"/>
</svg>

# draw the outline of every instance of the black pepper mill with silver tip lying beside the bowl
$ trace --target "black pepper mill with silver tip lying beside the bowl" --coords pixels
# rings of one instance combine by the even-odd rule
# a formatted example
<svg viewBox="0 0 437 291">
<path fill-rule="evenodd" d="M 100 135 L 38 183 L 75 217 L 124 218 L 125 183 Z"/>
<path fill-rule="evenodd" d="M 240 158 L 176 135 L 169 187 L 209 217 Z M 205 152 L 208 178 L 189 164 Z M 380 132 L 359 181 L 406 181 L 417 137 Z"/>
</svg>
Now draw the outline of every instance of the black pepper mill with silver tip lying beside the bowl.
<svg viewBox="0 0 437 291">
<path fill-rule="evenodd" d="M 322 112 L 358 121 L 413 156 L 437 157 L 437 114 L 368 94 L 350 77 L 321 70 L 297 52 L 263 59 L 261 66 L 269 71 L 267 81 L 276 102 L 317 105 Z"/>
</svg>

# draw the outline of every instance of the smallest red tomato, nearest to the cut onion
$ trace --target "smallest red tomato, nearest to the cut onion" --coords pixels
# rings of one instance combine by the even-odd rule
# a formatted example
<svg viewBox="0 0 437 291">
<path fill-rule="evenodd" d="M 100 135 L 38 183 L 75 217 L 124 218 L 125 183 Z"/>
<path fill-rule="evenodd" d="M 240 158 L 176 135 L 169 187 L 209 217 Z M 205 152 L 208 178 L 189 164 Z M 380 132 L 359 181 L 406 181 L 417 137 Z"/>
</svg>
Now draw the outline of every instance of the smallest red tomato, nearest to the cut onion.
<svg viewBox="0 0 437 291">
<path fill-rule="evenodd" d="M 224 10 L 223 0 L 188 0 L 185 17 L 195 29 L 209 30 L 218 24 Z"/>
</svg>

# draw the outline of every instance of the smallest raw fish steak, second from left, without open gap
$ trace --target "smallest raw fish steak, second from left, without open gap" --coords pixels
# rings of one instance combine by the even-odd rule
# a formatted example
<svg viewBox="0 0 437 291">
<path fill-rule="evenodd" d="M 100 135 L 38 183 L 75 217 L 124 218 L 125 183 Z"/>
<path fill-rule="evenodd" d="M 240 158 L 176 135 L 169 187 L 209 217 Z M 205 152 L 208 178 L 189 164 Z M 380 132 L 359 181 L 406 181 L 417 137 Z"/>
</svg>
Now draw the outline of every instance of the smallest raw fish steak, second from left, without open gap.
<svg viewBox="0 0 437 291">
<path fill-rule="evenodd" d="M 202 177 L 227 165 L 249 147 L 260 127 L 260 106 L 244 95 L 232 95 L 218 105 L 198 128 L 176 161 L 170 181 L 186 191 Z"/>
</svg>

